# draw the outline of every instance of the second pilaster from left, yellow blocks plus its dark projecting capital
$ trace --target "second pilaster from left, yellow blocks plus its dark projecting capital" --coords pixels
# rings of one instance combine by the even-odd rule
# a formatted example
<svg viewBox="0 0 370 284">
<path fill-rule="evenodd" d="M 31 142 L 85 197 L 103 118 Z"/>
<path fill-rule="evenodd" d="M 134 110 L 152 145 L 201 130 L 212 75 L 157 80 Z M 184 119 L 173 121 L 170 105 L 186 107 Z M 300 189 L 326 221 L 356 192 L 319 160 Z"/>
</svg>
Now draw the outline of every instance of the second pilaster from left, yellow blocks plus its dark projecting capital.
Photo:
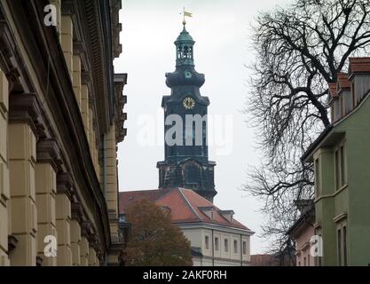
<svg viewBox="0 0 370 284">
<path fill-rule="evenodd" d="M 41 108 L 35 94 L 9 97 L 10 218 L 16 247 L 12 265 L 36 264 L 37 212 L 35 206 L 35 159 Z"/>
</svg>

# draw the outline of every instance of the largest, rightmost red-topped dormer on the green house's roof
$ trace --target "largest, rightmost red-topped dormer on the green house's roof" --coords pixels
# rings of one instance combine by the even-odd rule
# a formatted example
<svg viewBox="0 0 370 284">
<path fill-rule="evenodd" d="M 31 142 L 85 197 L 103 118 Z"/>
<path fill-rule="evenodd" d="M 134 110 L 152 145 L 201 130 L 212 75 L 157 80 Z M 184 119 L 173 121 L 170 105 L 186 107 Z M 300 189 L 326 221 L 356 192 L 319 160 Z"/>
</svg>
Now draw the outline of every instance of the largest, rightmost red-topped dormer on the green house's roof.
<svg viewBox="0 0 370 284">
<path fill-rule="evenodd" d="M 355 107 L 370 90 L 370 57 L 350 58 L 349 75 L 353 107 Z"/>
</svg>

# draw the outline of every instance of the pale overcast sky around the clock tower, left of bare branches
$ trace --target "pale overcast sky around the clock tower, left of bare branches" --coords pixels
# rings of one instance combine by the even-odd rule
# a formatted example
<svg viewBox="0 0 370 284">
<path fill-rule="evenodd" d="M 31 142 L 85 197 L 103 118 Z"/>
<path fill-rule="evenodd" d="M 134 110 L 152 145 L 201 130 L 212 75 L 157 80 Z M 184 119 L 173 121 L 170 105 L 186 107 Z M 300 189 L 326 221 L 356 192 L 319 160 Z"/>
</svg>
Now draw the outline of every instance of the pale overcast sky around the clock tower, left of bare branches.
<svg viewBox="0 0 370 284">
<path fill-rule="evenodd" d="M 209 160 L 216 162 L 215 205 L 233 209 L 235 218 L 256 234 L 251 253 L 263 253 L 267 242 L 259 238 L 264 217 L 261 201 L 240 191 L 248 169 L 258 165 L 255 130 L 241 111 L 247 101 L 250 24 L 259 11 L 272 10 L 289 0 L 122 0 L 122 55 L 115 59 L 115 73 L 128 73 L 124 94 L 128 103 L 128 135 L 119 145 L 120 191 L 158 188 L 156 162 L 164 158 L 161 97 L 169 95 L 165 73 L 175 69 L 174 41 L 182 30 L 179 12 L 193 12 L 187 30 L 196 41 L 195 68 L 204 73 L 201 88 L 209 96 L 209 116 L 219 119 L 216 137 L 209 146 Z M 232 127 L 230 123 L 232 121 Z M 217 138 L 218 137 L 218 138 Z"/>
</svg>

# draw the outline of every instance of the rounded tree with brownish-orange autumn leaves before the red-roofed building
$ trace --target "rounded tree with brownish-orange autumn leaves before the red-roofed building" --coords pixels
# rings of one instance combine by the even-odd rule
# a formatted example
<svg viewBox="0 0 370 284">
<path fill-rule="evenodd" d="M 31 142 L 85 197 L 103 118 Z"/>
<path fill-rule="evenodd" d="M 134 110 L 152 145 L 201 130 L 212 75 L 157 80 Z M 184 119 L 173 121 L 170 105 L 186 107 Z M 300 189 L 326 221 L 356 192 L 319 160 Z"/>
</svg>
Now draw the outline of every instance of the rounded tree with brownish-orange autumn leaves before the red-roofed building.
<svg viewBox="0 0 370 284">
<path fill-rule="evenodd" d="M 126 212 L 131 225 L 126 265 L 187 266 L 192 265 L 190 241 L 172 225 L 170 212 L 153 201 L 137 201 Z"/>
</svg>

